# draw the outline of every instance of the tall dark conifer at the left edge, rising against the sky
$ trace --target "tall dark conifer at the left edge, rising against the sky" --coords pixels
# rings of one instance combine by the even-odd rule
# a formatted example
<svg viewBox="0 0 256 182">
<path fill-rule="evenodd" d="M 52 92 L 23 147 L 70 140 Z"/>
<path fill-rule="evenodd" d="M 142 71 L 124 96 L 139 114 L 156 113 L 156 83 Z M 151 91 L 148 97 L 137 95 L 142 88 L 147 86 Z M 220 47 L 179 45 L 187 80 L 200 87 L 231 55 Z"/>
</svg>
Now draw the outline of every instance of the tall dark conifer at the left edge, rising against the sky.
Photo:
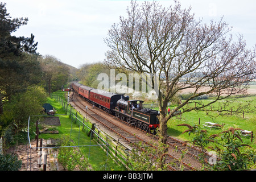
<svg viewBox="0 0 256 182">
<path fill-rule="evenodd" d="M 35 68 L 35 62 L 27 61 L 27 54 L 36 54 L 38 43 L 34 41 L 35 36 L 31 34 L 30 38 L 25 38 L 11 35 L 27 22 L 27 18 L 11 18 L 5 3 L 0 3 L 0 114 L 5 103 L 2 100 L 26 90 L 27 80 L 30 80 L 28 74 L 33 70 L 28 68 Z M 29 67 L 28 62 L 32 63 Z"/>
</svg>

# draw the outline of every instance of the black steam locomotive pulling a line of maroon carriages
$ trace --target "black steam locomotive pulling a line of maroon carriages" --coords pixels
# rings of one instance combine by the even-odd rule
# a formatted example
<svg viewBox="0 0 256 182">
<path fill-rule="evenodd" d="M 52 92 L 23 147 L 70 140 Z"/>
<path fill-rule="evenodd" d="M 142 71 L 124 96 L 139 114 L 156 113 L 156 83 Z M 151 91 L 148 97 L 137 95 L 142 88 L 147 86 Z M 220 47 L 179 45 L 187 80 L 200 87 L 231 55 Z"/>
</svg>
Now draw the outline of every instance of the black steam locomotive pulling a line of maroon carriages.
<svg viewBox="0 0 256 182">
<path fill-rule="evenodd" d="M 141 100 L 129 100 L 129 96 L 94 89 L 78 82 L 72 82 L 71 88 L 76 94 L 94 106 L 115 115 L 115 117 L 130 123 L 132 126 L 147 132 L 159 127 L 157 117 L 159 112 L 143 108 L 143 101 Z"/>
</svg>

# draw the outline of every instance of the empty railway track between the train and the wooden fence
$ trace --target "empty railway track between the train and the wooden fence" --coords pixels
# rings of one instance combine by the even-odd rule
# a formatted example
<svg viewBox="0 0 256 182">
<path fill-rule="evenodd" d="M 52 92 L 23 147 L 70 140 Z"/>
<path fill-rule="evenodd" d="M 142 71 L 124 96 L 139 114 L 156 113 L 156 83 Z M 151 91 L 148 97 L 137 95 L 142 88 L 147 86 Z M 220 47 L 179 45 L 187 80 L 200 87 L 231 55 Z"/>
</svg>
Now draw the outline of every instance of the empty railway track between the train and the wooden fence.
<svg viewBox="0 0 256 182">
<path fill-rule="evenodd" d="M 79 107 L 80 110 L 87 113 L 91 118 L 93 118 L 95 121 L 100 123 L 100 125 L 104 126 L 107 130 L 109 130 L 109 132 L 114 133 L 119 137 L 121 137 L 124 140 L 126 146 L 133 146 L 133 148 L 139 147 L 138 142 L 141 142 L 142 143 L 141 146 L 154 147 L 152 146 L 152 144 L 146 142 L 146 140 L 142 139 L 141 137 L 138 137 L 137 135 L 134 135 L 134 133 L 131 133 L 129 130 L 124 129 L 123 127 L 120 127 L 119 125 L 113 122 L 113 119 L 118 119 L 118 122 L 122 121 L 121 119 L 116 118 L 111 114 L 105 113 L 104 111 L 102 111 L 101 109 L 98 109 L 97 107 L 95 107 L 94 109 L 88 108 L 85 110 L 85 104 L 83 104 L 82 102 L 86 102 L 86 101 L 84 100 L 81 101 L 79 98 L 74 96 L 74 94 L 72 94 L 71 98 L 72 98 L 73 104 Z M 111 116 L 113 119 L 108 119 L 106 115 Z M 126 122 L 123 122 L 123 123 L 129 126 L 128 123 Z M 180 145 L 182 145 L 181 141 L 175 140 L 174 138 L 170 137 L 167 142 L 168 142 L 167 144 L 169 144 L 170 146 L 175 146 L 176 148 L 178 147 L 180 150 L 183 150 L 180 147 Z M 143 147 L 139 147 L 139 149 L 144 151 Z M 193 156 L 195 155 L 193 154 Z M 155 156 L 153 157 L 156 158 Z M 196 168 L 192 167 L 191 165 L 189 165 L 184 161 L 181 161 L 177 156 L 174 156 L 171 154 L 165 154 L 165 158 L 166 158 L 165 163 L 167 164 L 167 168 L 170 170 L 174 170 L 174 171 L 180 170 L 180 167 L 181 167 L 180 164 L 182 164 L 184 171 L 191 171 L 191 170 L 196 171 Z"/>
</svg>

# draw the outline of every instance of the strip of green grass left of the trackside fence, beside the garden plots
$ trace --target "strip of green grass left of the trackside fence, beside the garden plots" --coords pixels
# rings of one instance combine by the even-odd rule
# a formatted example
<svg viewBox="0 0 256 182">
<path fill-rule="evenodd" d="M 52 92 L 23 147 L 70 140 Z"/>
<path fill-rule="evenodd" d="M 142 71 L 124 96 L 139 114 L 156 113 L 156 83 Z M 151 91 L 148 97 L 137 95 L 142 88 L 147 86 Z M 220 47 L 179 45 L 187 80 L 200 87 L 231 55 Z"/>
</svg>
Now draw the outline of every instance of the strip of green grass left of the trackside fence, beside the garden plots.
<svg viewBox="0 0 256 182">
<path fill-rule="evenodd" d="M 61 97 L 64 98 L 63 92 L 57 92 L 57 94 L 60 94 Z M 118 166 L 113 160 L 108 159 L 107 154 L 103 150 L 101 150 L 100 146 L 89 146 L 97 145 L 94 140 L 87 136 L 89 130 L 86 129 L 86 127 L 85 130 L 82 130 L 82 126 L 79 126 L 79 122 L 75 123 L 74 120 L 72 122 L 72 118 L 70 117 L 70 115 L 61 115 L 66 113 L 66 109 L 60 104 L 60 102 L 56 101 L 55 98 L 48 98 L 47 103 L 51 104 L 55 109 L 56 116 L 60 118 L 61 126 L 55 126 L 56 130 L 59 131 L 59 134 L 40 134 L 39 138 L 59 139 L 61 135 L 69 134 L 75 144 L 80 146 L 86 146 L 80 147 L 80 150 L 84 152 L 85 156 L 89 159 L 89 163 L 92 166 L 93 170 L 123 170 L 123 168 Z M 68 110 L 70 111 L 69 107 Z M 83 117 L 78 113 L 77 118 L 80 118 L 80 121 L 82 121 Z M 88 125 L 89 128 L 92 126 L 90 122 L 86 122 L 86 125 Z"/>
</svg>

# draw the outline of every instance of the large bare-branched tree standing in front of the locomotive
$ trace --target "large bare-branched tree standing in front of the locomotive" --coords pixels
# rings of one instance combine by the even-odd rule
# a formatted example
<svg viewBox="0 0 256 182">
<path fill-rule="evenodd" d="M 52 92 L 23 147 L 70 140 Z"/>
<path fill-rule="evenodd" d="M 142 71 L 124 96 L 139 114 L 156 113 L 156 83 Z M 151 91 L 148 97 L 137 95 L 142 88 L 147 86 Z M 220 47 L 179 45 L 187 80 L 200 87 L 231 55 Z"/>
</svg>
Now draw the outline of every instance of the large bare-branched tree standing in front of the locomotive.
<svg viewBox="0 0 256 182">
<path fill-rule="evenodd" d="M 191 110 L 205 110 L 232 94 L 245 93 L 249 81 L 255 78 L 255 48 L 246 49 L 242 36 L 234 42 L 222 19 L 203 24 L 190 10 L 181 9 L 177 1 L 170 7 L 155 1 L 139 6 L 131 1 L 127 18 L 120 16 L 105 39 L 110 48 L 106 64 L 157 77 L 163 143 L 170 118 Z M 152 87 L 155 84 L 152 79 Z M 194 89 L 192 95 L 167 115 L 168 102 L 189 88 Z M 215 94 L 216 98 L 205 105 L 192 100 L 204 94 Z"/>
</svg>

